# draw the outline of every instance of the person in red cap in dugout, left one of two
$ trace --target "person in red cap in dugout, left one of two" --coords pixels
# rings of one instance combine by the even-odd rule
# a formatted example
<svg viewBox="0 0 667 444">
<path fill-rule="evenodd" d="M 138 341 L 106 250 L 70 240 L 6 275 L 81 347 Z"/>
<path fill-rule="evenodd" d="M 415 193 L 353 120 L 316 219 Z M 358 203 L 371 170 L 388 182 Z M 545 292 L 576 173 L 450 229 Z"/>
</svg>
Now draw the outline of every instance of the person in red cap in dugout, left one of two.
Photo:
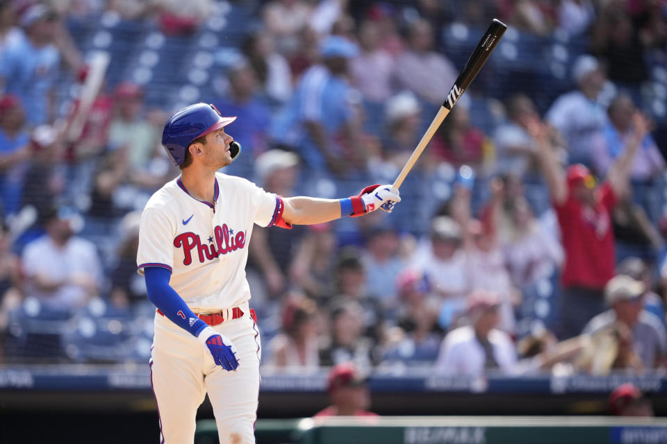
<svg viewBox="0 0 667 444">
<path fill-rule="evenodd" d="M 331 405 L 318 413 L 315 418 L 326 416 L 377 416 L 370 407 L 370 393 L 367 378 L 354 364 L 344 362 L 331 368 L 327 377 L 327 392 Z"/>
</svg>

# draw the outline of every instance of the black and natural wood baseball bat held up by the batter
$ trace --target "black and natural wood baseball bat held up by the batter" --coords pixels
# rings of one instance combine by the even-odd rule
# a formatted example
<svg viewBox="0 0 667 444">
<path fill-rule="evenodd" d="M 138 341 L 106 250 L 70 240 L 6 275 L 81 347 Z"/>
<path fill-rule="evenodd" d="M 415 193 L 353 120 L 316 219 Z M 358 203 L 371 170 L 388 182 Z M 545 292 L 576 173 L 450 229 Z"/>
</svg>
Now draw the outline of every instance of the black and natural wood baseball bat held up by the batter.
<svg viewBox="0 0 667 444">
<path fill-rule="evenodd" d="M 415 162 L 417 162 L 419 159 L 419 156 L 422 155 L 424 148 L 426 148 L 427 144 L 431 142 L 431 139 L 436 133 L 436 130 L 438 130 L 440 123 L 443 123 L 443 120 L 445 120 L 447 114 L 450 114 L 450 111 L 454 107 L 456 101 L 458 101 L 459 97 L 461 97 L 461 94 L 463 94 L 463 92 L 468 89 L 468 85 L 470 85 L 475 76 L 477 76 L 477 73 L 481 67 L 484 66 L 488 56 L 491 56 L 491 51 L 493 51 L 495 45 L 498 43 L 498 40 L 500 40 L 500 37 L 502 37 L 505 30 L 507 30 L 507 25 L 500 22 L 498 19 L 493 19 L 491 25 L 488 26 L 486 33 L 484 33 L 484 35 L 481 37 L 481 40 L 479 40 L 475 51 L 472 51 L 470 58 L 468 58 L 468 62 L 466 62 L 466 66 L 463 67 L 463 71 L 461 71 L 459 77 L 456 78 L 454 86 L 452 86 L 452 89 L 450 89 L 450 94 L 447 94 L 447 99 L 445 99 L 443 105 L 440 106 L 438 114 L 436 114 L 436 117 L 434 117 L 433 121 L 431 121 L 429 128 L 422 136 L 422 139 L 417 145 L 417 148 L 415 148 L 415 151 L 412 152 L 400 174 L 396 180 L 394 180 L 393 189 L 399 189 L 405 180 L 405 177 L 415 165 Z"/>
</svg>

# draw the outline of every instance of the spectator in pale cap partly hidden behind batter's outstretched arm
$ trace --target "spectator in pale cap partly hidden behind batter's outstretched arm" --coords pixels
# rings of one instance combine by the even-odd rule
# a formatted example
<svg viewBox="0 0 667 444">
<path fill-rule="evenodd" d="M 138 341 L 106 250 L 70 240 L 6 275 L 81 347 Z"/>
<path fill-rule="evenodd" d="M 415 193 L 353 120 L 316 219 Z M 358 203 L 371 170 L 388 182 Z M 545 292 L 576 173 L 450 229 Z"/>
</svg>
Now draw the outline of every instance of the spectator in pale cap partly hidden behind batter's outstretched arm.
<svg viewBox="0 0 667 444">
<path fill-rule="evenodd" d="M 295 153 L 267 151 L 257 158 L 258 185 L 279 196 L 293 196 L 298 165 L 299 157 Z M 299 226 L 292 230 L 256 227 L 253 231 L 249 268 L 261 273 L 269 296 L 278 296 L 286 290 L 286 274 L 303 233 L 304 228 Z"/>
</svg>

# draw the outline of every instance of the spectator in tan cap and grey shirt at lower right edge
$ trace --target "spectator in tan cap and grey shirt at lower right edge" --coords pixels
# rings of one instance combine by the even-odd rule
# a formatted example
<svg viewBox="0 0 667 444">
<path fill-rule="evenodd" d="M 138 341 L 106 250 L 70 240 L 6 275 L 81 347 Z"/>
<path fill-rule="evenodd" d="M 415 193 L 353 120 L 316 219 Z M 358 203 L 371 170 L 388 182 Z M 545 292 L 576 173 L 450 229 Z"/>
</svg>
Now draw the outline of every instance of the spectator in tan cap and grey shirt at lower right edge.
<svg viewBox="0 0 667 444">
<path fill-rule="evenodd" d="M 595 316 L 584 327 L 584 334 L 595 334 L 616 322 L 632 331 L 633 350 L 645 368 L 664 368 L 667 356 L 667 332 L 660 319 L 643 309 L 642 282 L 617 275 L 604 288 L 609 310 Z"/>
</svg>

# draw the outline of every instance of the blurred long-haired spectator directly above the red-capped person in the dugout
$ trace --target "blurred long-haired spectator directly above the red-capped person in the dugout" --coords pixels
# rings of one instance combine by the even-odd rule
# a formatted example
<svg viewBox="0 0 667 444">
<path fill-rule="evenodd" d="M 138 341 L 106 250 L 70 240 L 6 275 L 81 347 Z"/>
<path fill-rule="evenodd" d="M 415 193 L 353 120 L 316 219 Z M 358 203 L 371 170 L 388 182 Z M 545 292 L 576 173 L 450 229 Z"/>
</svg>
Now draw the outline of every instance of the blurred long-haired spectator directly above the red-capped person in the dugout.
<svg viewBox="0 0 667 444">
<path fill-rule="evenodd" d="M 320 351 L 320 365 L 335 366 L 353 361 L 366 371 L 377 361 L 374 341 L 364 336 L 364 310 L 358 302 L 343 300 L 329 309 L 331 334 Z"/>
</svg>

